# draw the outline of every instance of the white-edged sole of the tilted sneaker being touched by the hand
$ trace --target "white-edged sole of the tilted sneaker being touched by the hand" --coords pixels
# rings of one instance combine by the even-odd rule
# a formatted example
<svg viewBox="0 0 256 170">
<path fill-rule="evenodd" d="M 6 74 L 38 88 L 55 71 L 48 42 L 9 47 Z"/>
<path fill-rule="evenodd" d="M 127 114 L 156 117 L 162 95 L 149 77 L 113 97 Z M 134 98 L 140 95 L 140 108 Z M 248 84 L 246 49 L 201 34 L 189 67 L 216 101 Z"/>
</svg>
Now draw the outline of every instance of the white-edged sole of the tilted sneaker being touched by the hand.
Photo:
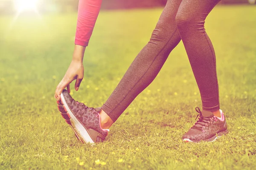
<svg viewBox="0 0 256 170">
<path fill-rule="evenodd" d="M 81 124 L 81 122 L 76 118 L 76 116 L 68 107 L 67 102 L 65 101 L 62 93 L 61 93 L 61 100 L 57 103 L 58 103 L 58 110 L 61 112 L 61 116 L 64 119 L 66 119 L 67 124 L 70 125 L 77 139 L 82 143 L 94 143 L 87 129 L 84 127 L 84 125 Z"/>
</svg>

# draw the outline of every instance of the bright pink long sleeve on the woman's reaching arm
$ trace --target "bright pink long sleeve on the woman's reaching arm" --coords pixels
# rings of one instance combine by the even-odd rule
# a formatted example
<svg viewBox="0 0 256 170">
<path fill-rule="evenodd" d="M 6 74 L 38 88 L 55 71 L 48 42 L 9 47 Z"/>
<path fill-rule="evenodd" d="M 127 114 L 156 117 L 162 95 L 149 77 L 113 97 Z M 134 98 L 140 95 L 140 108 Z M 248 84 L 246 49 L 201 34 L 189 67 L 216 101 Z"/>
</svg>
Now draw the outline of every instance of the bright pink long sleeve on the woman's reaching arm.
<svg viewBox="0 0 256 170">
<path fill-rule="evenodd" d="M 79 0 L 75 44 L 88 45 L 101 3 L 102 0 Z"/>
</svg>

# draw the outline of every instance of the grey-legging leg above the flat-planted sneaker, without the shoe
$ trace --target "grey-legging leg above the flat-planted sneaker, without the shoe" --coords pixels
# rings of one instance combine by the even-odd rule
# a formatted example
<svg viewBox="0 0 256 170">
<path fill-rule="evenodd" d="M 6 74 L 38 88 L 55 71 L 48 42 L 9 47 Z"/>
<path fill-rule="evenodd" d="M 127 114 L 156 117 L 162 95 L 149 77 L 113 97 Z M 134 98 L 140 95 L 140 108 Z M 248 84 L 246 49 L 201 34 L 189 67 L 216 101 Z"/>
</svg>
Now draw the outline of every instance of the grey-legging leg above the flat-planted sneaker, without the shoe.
<svg viewBox="0 0 256 170">
<path fill-rule="evenodd" d="M 176 23 L 186 48 L 204 111 L 219 111 L 216 59 L 204 20 L 220 0 L 183 0 L 177 11 Z M 219 115 L 220 116 L 220 115 Z"/>
</svg>

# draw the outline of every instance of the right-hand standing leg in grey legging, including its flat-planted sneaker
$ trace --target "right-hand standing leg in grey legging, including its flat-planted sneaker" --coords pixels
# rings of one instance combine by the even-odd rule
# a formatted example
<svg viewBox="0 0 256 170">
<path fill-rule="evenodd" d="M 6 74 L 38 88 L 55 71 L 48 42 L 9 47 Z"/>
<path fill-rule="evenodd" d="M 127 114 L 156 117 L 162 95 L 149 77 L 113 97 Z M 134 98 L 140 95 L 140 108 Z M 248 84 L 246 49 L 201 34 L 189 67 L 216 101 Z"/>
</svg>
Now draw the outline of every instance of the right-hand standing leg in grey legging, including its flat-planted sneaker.
<svg viewBox="0 0 256 170">
<path fill-rule="evenodd" d="M 176 16 L 180 37 L 186 48 L 198 88 L 203 111 L 198 121 L 183 136 L 183 141 L 215 141 L 228 133 L 219 107 L 216 59 L 212 42 L 204 29 L 204 20 L 219 0 L 183 0 Z M 217 134 L 217 135 L 216 135 Z"/>
</svg>

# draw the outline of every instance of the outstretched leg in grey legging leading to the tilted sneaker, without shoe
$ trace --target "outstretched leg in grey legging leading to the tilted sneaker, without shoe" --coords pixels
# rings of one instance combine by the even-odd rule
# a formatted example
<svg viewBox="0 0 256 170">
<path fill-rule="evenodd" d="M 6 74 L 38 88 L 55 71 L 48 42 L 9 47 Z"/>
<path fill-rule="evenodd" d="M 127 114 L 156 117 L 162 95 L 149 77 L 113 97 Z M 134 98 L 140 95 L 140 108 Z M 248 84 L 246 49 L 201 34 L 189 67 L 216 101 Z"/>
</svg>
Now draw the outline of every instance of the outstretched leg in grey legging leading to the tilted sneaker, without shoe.
<svg viewBox="0 0 256 170">
<path fill-rule="evenodd" d="M 154 80 L 172 49 L 180 42 L 175 23 L 180 3 L 181 0 L 168 0 L 150 41 L 134 59 L 116 89 L 102 106 L 102 110 L 113 122 Z"/>
</svg>

